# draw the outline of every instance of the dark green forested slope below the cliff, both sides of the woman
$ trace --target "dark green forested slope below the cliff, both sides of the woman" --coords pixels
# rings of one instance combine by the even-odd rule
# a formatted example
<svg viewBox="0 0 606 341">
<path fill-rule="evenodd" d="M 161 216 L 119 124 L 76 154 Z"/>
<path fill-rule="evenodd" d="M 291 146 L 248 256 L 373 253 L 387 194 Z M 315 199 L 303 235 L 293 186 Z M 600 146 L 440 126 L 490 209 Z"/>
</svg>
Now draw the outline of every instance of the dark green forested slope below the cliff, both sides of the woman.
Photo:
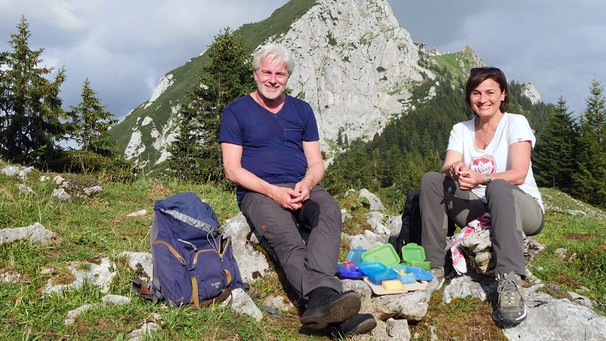
<svg viewBox="0 0 606 341">
<path fill-rule="evenodd" d="M 324 181 L 338 195 L 366 186 L 392 209 L 401 208 L 421 177 L 437 170 L 451 127 L 472 117 L 464 104 L 466 75 L 453 71 L 457 54 L 432 56 L 426 63 L 438 75 L 435 96 L 413 99 L 413 108 L 368 143 L 340 141 L 346 152 L 332 160 Z M 460 69 L 459 69 L 460 70 Z M 522 114 L 537 138 L 532 167 L 540 187 L 557 188 L 597 207 L 606 207 L 606 98 L 597 80 L 589 86 L 585 110 L 573 116 L 564 98 L 556 105 L 533 104 L 526 85 L 509 82 L 508 111 Z"/>
</svg>

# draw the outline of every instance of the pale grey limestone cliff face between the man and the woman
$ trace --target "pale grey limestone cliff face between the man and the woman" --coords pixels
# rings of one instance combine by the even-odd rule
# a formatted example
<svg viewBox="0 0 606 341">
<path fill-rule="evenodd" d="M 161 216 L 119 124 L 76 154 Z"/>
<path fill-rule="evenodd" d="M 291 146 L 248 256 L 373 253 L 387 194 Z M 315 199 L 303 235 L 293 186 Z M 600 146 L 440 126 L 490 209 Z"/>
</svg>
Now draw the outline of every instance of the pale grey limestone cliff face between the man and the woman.
<svg viewBox="0 0 606 341">
<path fill-rule="evenodd" d="M 288 85 L 314 107 L 324 142 L 339 130 L 349 140 L 372 137 L 432 77 L 385 0 L 318 1 L 276 40 L 296 54 Z"/>
</svg>

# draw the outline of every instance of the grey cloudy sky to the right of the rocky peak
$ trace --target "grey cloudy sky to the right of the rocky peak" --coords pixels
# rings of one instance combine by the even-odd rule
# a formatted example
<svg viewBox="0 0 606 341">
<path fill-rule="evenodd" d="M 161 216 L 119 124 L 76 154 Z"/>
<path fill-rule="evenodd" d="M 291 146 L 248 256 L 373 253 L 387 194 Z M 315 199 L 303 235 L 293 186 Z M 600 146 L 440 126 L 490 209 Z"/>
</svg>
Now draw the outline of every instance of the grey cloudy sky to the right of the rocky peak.
<svg viewBox="0 0 606 341">
<path fill-rule="evenodd" d="M 563 96 L 579 113 L 585 109 L 594 75 L 606 85 L 606 3 L 602 1 L 390 3 L 398 8 L 395 14 L 413 40 L 441 52 L 470 45 L 509 79 L 533 83 L 545 102 L 555 103 Z"/>
</svg>

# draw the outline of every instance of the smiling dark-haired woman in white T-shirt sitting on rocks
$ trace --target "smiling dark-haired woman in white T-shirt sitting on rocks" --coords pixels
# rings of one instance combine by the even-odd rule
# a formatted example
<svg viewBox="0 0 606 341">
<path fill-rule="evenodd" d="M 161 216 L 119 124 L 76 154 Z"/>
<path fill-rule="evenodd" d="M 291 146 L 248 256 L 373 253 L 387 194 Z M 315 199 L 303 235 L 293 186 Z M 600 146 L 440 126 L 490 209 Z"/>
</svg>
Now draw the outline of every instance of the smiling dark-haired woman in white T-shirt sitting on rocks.
<svg viewBox="0 0 606 341">
<path fill-rule="evenodd" d="M 535 235 L 544 225 L 530 161 L 535 137 L 524 116 L 506 112 L 507 80 L 498 68 L 471 69 L 465 101 L 475 117 L 452 128 L 441 172 L 421 183 L 422 244 L 441 285 L 448 220 L 465 226 L 490 213 L 499 283 L 494 316 L 517 324 L 526 318 L 523 233 Z"/>
</svg>

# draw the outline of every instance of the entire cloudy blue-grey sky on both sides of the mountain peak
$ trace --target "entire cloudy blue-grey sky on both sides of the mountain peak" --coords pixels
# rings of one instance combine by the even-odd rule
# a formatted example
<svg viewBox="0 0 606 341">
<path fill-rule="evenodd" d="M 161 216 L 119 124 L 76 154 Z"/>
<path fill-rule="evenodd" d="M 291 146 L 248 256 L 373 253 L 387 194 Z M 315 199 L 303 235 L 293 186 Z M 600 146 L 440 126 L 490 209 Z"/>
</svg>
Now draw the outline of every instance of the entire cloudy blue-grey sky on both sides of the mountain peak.
<svg viewBox="0 0 606 341">
<path fill-rule="evenodd" d="M 0 51 L 24 16 L 39 65 L 65 68 L 64 109 L 85 80 L 118 119 L 148 100 L 160 78 L 202 53 L 226 27 L 266 19 L 287 0 L 0 0 Z M 442 53 L 472 47 L 509 80 L 579 114 L 593 80 L 606 86 L 606 1 L 388 0 L 417 43 Z"/>
</svg>

